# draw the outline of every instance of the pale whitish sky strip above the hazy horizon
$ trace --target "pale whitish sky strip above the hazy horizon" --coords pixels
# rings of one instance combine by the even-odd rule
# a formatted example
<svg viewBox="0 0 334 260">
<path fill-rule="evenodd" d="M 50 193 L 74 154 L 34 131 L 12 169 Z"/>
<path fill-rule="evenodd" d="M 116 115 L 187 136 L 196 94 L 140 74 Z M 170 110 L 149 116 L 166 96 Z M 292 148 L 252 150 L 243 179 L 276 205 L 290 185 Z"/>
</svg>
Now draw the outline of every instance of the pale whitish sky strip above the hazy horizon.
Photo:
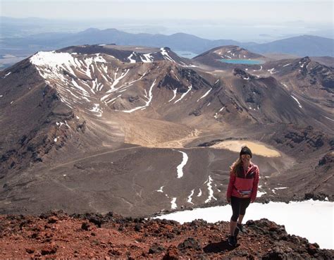
<svg viewBox="0 0 334 260">
<path fill-rule="evenodd" d="M 32 5 L 33 8 L 32 8 Z M 117 10 L 117 12 L 113 12 Z M 333 1 L 46 1 L 1 0 L 1 16 L 15 18 L 132 18 L 266 20 L 332 23 Z"/>
</svg>

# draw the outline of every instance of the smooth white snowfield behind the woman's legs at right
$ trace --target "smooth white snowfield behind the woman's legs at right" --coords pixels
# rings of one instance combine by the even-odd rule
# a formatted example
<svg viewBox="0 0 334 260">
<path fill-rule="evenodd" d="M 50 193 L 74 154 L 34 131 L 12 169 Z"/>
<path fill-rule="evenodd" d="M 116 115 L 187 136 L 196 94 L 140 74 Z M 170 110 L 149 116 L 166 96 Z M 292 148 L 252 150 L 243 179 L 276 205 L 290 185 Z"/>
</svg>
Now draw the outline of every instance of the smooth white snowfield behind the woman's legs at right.
<svg viewBox="0 0 334 260">
<path fill-rule="evenodd" d="M 157 218 L 166 218 L 180 223 L 202 218 L 205 221 L 230 221 L 230 205 L 214 206 L 192 211 L 178 211 Z M 285 225 L 289 234 L 306 237 L 309 242 L 317 242 L 321 248 L 334 249 L 334 203 L 308 200 L 304 202 L 253 203 L 247 208 L 243 223 L 248 220 L 267 218 L 279 225 Z"/>
</svg>

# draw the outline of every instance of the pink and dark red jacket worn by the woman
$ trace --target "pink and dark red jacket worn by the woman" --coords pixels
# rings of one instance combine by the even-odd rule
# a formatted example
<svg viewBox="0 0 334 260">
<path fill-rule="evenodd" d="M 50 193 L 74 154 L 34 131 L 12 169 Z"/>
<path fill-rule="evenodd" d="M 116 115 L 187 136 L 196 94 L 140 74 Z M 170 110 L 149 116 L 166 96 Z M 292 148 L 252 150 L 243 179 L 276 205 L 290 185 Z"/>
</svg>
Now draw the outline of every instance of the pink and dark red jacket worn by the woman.
<svg viewBox="0 0 334 260">
<path fill-rule="evenodd" d="M 242 169 L 243 170 L 243 169 Z M 230 173 L 230 182 L 228 183 L 228 192 L 226 197 L 230 198 L 251 198 L 252 201 L 256 199 L 257 186 L 259 185 L 259 167 L 254 163 L 250 163 L 247 171 L 243 170 L 243 176 L 238 177 Z M 249 192 L 249 194 L 247 194 Z M 242 195 L 244 193 L 245 195 Z"/>
</svg>

